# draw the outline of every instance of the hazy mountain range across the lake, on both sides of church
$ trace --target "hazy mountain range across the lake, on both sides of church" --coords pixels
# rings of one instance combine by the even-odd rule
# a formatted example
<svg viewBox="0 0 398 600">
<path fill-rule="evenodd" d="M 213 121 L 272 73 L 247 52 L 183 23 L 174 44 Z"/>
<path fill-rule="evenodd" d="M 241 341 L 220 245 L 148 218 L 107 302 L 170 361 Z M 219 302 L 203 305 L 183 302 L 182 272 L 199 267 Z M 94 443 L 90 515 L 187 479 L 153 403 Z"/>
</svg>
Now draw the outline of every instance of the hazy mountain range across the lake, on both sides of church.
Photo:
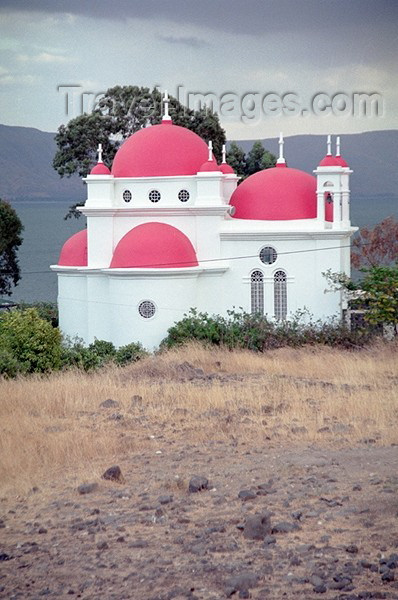
<svg viewBox="0 0 398 600">
<path fill-rule="evenodd" d="M 77 177 L 63 178 L 52 168 L 54 133 L 31 127 L 0 125 L 0 198 L 55 199 L 77 202 L 85 189 Z M 238 141 L 245 151 L 255 140 Z M 398 208 L 398 130 L 344 135 L 342 155 L 354 171 L 353 216 L 359 225 L 375 223 Z M 278 154 L 276 138 L 263 140 Z M 312 173 L 326 153 L 326 136 L 294 135 L 285 140 L 288 165 Z M 354 220 L 354 219 L 353 219 Z"/>
</svg>

